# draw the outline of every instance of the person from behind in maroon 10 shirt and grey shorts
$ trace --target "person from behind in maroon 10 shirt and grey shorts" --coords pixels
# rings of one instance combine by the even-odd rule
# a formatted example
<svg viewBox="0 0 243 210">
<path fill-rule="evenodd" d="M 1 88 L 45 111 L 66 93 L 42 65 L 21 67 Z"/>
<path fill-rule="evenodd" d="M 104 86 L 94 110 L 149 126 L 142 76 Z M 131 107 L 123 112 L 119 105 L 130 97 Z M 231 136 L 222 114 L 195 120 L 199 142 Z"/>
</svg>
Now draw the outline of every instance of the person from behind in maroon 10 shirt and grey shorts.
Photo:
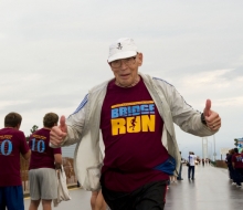
<svg viewBox="0 0 243 210">
<path fill-rule="evenodd" d="M 38 210 L 40 202 L 43 210 L 51 210 L 53 199 L 57 198 L 57 178 L 55 168 L 62 165 L 61 148 L 51 148 L 50 132 L 56 126 L 59 116 L 55 113 L 47 113 L 43 118 L 43 128 L 30 136 L 29 146 L 32 150 L 29 180 L 30 180 L 30 208 Z"/>
</svg>

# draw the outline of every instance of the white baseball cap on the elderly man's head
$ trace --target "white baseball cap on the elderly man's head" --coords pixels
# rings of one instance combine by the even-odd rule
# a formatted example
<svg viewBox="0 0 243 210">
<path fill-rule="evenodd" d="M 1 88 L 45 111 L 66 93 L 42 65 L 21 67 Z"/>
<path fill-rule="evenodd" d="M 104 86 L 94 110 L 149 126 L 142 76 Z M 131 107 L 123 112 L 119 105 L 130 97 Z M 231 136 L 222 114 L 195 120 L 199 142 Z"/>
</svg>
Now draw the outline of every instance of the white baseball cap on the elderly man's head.
<svg viewBox="0 0 243 210">
<path fill-rule="evenodd" d="M 133 39 L 120 38 L 109 46 L 108 62 L 135 56 L 138 50 Z"/>
</svg>

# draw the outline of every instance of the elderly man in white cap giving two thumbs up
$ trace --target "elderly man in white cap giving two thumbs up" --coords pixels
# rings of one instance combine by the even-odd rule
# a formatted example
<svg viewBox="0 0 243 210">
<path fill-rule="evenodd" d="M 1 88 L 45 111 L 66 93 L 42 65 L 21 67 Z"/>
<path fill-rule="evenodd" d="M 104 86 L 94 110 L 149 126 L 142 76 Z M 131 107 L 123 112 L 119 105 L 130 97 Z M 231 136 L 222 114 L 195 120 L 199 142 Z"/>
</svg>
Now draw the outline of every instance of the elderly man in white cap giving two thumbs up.
<svg viewBox="0 0 243 210">
<path fill-rule="evenodd" d="M 78 143 L 78 180 L 86 190 L 102 185 L 110 209 L 163 209 L 169 175 L 180 164 L 173 123 L 187 133 L 210 136 L 221 118 L 210 99 L 201 114 L 172 85 L 139 73 L 142 53 L 133 39 L 114 42 L 107 62 L 115 77 L 93 87 L 67 119 L 61 117 L 51 143 Z"/>
</svg>

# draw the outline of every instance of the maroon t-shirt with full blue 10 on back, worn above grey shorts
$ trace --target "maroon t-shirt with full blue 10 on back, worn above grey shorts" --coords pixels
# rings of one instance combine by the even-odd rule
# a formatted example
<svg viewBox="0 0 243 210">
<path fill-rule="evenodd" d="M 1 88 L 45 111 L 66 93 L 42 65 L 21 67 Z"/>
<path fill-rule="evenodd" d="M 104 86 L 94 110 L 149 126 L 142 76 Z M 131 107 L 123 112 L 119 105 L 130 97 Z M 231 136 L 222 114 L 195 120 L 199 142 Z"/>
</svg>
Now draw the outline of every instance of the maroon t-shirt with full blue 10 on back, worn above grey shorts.
<svg viewBox="0 0 243 210">
<path fill-rule="evenodd" d="M 54 155 L 62 154 L 61 148 L 51 148 L 50 129 L 41 128 L 31 135 L 29 146 L 31 149 L 31 159 L 29 169 L 55 168 Z"/>
</svg>

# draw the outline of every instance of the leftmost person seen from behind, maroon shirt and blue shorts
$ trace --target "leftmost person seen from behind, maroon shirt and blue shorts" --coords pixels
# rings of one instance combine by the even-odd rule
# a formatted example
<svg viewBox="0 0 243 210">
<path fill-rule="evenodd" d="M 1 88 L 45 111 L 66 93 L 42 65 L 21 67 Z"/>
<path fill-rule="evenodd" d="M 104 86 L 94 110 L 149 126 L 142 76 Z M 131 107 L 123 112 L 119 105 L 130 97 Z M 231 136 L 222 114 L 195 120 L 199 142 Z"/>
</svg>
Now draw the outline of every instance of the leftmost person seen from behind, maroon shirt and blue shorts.
<svg viewBox="0 0 243 210">
<path fill-rule="evenodd" d="M 28 160 L 30 149 L 23 132 L 19 130 L 22 117 L 9 113 L 4 128 L 0 129 L 0 209 L 24 210 L 20 175 L 20 155 Z"/>
</svg>

